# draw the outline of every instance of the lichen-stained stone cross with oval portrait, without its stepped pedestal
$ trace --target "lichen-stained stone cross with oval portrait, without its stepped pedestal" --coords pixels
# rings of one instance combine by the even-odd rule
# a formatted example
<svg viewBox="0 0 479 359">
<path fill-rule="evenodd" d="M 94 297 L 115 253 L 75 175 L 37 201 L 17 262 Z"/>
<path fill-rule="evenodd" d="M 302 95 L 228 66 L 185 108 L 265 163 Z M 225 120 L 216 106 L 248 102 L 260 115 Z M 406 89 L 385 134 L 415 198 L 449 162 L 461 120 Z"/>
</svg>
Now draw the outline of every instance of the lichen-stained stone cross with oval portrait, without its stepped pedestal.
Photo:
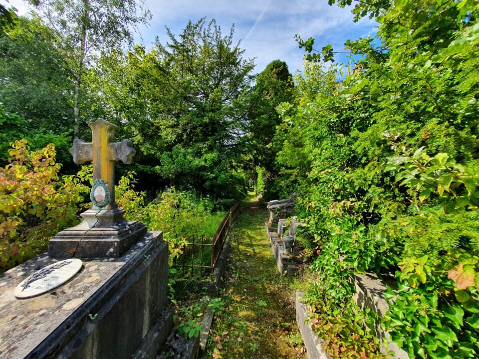
<svg viewBox="0 0 479 359">
<path fill-rule="evenodd" d="M 93 161 L 92 209 L 115 209 L 118 207 L 115 202 L 115 161 L 129 165 L 136 151 L 130 140 L 113 142 L 117 126 L 108 121 L 98 119 L 88 126 L 92 142 L 75 139 L 70 154 L 78 165 Z"/>
</svg>

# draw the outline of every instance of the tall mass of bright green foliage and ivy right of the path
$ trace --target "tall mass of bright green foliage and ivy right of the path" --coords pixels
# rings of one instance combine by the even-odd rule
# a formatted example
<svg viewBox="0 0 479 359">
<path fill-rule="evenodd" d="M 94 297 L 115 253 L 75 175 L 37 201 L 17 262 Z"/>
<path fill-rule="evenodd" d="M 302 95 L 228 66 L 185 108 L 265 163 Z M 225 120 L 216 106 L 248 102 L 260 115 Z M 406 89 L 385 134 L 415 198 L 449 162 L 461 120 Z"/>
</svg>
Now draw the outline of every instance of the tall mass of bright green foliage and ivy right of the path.
<svg viewBox="0 0 479 359">
<path fill-rule="evenodd" d="M 299 193 L 319 246 L 306 299 L 322 337 L 348 348 L 333 355 L 357 349 L 343 325 L 374 348 L 350 322 L 352 275 L 369 270 L 396 277 L 386 325 L 411 358 L 478 356 L 478 10 L 469 0 L 358 1 L 355 20 L 374 18 L 376 40 L 348 40 L 359 56 L 345 66 L 306 62 L 297 103 L 278 106 L 276 183 Z M 330 46 L 298 41 L 310 60 L 332 59 Z"/>
</svg>

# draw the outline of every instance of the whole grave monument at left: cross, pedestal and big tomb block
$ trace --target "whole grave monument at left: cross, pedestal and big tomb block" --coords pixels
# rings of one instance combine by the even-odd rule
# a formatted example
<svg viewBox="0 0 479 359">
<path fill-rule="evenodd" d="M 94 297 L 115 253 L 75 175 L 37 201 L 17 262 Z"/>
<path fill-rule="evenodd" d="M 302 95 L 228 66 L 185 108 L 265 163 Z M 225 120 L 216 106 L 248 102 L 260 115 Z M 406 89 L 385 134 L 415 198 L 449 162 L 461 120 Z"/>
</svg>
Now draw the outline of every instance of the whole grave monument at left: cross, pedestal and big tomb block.
<svg viewBox="0 0 479 359">
<path fill-rule="evenodd" d="M 114 125 L 90 127 L 92 144 L 75 140 L 71 151 L 77 163 L 93 160 L 84 221 L 50 241 L 50 256 L 0 275 L 2 359 L 153 359 L 172 328 L 168 244 L 162 232 L 126 222 L 115 202 L 113 161 L 131 163 L 135 151 L 128 140 L 113 142 Z M 78 262 L 76 274 L 62 264 Z M 17 299 L 19 284 L 47 292 Z"/>
</svg>

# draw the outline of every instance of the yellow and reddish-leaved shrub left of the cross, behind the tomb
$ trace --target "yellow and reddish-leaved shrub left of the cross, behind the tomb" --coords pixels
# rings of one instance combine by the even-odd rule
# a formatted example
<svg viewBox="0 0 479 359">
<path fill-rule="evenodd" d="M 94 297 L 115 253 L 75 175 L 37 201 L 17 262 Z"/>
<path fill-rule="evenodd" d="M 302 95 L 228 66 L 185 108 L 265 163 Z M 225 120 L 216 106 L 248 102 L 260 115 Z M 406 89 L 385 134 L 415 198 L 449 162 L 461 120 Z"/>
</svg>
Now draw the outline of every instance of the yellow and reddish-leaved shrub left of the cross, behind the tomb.
<svg viewBox="0 0 479 359">
<path fill-rule="evenodd" d="M 0 271 L 46 250 L 48 240 L 78 222 L 82 184 L 91 176 L 83 168 L 76 176 L 58 178 L 55 147 L 30 151 L 25 140 L 10 150 L 9 164 L 0 169 Z"/>
</svg>

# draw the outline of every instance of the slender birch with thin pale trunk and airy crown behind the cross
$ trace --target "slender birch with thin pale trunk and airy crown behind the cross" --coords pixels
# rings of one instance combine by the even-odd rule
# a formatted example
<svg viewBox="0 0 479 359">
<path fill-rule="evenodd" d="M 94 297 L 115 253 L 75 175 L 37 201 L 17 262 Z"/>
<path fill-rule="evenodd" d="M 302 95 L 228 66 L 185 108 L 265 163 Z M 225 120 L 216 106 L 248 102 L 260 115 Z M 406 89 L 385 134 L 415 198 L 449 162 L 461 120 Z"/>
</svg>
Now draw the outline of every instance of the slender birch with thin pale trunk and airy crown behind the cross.
<svg viewBox="0 0 479 359">
<path fill-rule="evenodd" d="M 144 0 L 31 0 L 57 31 L 74 83 L 74 135 L 80 130 L 80 102 L 88 69 L 112 49 L 132 44 L 131 28 L 147 23 Z"/>
</svg>

